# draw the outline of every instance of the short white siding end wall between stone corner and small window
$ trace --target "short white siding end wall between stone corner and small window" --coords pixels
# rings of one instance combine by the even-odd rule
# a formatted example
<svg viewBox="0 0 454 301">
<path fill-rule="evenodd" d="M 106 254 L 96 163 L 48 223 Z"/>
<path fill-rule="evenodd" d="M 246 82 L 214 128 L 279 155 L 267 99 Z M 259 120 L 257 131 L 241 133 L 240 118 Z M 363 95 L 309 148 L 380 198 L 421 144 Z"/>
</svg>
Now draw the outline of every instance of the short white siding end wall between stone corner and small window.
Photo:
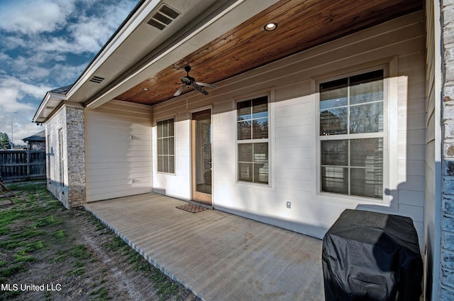
<svg viewBox="0 0 454 301">
<path fill-rule="evenodd" d="M 86 111 L 87 202 L 151 191 L 150 111 L 115 100 Z"/>
</svg>

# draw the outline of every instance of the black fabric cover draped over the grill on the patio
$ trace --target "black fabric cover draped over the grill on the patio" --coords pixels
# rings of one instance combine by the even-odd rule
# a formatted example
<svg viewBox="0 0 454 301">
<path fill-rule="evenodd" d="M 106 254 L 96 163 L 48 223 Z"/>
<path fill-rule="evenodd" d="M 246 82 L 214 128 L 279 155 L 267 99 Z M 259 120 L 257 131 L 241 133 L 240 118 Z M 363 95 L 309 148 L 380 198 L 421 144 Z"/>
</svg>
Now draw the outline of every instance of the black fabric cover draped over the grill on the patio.
<svg viewBox="0 0 454 301">
<path fill-rule="evenodd" d="M 423 262 L 409 217 L 345 210 L 323 237 L 326 300 L 419 300 Z"/>
</svg>

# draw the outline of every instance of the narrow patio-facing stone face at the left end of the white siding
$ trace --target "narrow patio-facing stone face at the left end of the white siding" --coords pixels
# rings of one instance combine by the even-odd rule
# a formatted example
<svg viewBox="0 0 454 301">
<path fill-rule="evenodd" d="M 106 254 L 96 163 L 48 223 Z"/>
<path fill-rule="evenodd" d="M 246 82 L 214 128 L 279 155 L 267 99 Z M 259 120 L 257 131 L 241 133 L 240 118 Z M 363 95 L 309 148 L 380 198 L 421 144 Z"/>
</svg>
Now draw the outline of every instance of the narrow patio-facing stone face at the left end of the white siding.
<svg viewBox="0 0 454 301">
<path fill-rule="evenodd" d="M 86 203 L 84 109 L 67 106 L 67 207 Z"/>
</svg>

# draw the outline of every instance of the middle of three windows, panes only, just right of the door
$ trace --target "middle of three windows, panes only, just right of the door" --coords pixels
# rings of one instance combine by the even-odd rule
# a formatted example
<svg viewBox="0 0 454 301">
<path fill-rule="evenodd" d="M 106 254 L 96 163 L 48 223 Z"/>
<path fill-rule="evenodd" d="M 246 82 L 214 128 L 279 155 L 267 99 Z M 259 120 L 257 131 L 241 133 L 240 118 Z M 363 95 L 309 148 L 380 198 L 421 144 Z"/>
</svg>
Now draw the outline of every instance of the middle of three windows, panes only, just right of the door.
<svg viewBox="0 0 454 301">
<path fill-rule="evenodd" d="M 268 97 L 236 104 L 238 181 L 268 184 Z"/>
</svg>

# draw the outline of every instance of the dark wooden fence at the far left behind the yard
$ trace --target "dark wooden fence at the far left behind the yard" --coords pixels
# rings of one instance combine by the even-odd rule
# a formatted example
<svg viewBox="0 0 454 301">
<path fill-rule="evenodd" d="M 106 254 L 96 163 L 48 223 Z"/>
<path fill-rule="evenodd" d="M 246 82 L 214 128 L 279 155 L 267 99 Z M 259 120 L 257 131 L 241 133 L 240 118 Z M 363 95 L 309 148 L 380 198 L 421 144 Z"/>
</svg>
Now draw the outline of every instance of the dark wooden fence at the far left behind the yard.
<svg viewBox="0 0 454 301">
<path fill-rule="evenodd" d="M 45 179 L 45 151 L 0 151 L 0 177 L 5 182 Z"/>
</svg>

